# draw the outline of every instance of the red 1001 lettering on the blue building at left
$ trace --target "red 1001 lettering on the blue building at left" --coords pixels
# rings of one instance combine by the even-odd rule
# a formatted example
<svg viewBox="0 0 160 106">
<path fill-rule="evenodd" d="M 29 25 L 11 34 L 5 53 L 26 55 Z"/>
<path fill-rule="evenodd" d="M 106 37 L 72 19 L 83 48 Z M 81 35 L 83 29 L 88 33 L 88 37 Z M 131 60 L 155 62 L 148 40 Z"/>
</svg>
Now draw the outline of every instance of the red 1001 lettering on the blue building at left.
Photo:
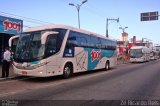
<svg viewBox="0 0 160 106">
<path fill-rule="evenodd" d="M 17 30 L 17 32 L 20 32 L 21 31 L 21 23 L 16 23 L 16 22 L 12 22 L 12 21 L 9 21 L 8 19 L 5 20 L 3 22 L 3 25 L 4 25 L 4 30 L 5 31 L 8 31 L 9 29 L 12 29 L 12 30 Z"/>
</svg>

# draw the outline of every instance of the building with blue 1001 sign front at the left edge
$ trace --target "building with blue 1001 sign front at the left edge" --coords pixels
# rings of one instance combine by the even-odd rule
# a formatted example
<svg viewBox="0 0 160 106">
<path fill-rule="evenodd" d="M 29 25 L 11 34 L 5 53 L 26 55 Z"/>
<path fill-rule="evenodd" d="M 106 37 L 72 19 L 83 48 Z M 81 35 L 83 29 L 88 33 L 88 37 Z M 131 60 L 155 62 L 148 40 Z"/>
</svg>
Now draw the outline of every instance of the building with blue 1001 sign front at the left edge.
<svg viewBox="0 0 160 106">
<path fill-rule="evenodd" d="M 0 16 L 0 62 L 2 62 L 4 49 L 9 46 L 9 38 L 21 34 L 22 31 L 22 20 Z"/>
</svg>

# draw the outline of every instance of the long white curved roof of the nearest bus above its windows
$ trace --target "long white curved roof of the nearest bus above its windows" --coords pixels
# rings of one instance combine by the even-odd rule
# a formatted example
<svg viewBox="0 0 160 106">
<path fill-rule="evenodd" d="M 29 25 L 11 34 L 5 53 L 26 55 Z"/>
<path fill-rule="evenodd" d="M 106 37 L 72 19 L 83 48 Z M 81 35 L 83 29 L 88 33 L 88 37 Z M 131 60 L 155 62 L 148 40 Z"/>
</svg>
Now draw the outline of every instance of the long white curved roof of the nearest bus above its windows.
<svg viewBox="0 0 160 106">
<path fill-rule="evenodd" d="M 85 34 L 88 34 L 88 35 L 91 35 L 91 36 L 96 36 L 96 37 L 100 37 L 100 38 L 104 38 L 104 39 L 113 40 L 113 39 L 110 39 L 110 38 L 106 38 L 105 36 L 102 36 L 100 34 L 93 33 L 93 32 L 90 32 L 90 31 L 86 31 L 84 29 L 79 29 L 79 28 L 75 28 L 75 27 L 72 27 L 72 26 L 60 25 L 60 24 L 51 24 L 51 25 L 43 25 L 43 26 L 38 26 L 38 27 L 32 27 L 32 28 L 28 28 L 28 29 L 24 30 L 23 32 L 35 32 L 35 31 L 49 30 L 49 29 L 54 29 L 54 28 L 69 29 L 69 30 L 72 30 L 72 31 L 85 33 Z M 113 41 L 116 41 L 116 40 L 113 40 Z"/>
</svg>

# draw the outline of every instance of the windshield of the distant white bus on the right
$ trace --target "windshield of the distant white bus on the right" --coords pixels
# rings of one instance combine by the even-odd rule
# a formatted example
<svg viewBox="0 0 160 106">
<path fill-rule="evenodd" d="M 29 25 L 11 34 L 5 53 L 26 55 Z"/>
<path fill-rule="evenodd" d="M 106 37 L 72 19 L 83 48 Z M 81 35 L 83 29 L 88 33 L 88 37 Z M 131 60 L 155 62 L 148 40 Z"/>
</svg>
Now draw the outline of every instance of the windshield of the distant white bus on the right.
<svg viewBox="0 0 160 106">
<path fill-rule="evenodd" d="M 140 58 L 143 56 L 142 49 L 131 49 L 130 57 L 131 58 Z"/>
</svg>

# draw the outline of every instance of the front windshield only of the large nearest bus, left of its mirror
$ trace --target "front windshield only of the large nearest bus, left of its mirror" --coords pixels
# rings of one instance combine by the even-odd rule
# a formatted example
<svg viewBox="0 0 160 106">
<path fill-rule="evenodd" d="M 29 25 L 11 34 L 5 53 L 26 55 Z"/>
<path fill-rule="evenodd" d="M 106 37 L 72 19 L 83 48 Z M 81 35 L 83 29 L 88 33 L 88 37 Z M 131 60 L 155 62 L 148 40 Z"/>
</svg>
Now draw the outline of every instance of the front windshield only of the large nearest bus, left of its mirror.
<svg viewBox="0 0 160 106">
<path fill-rule="evenodd" d="M 14 60 L 31 62 L 42 58 L 45 46 L 41 44 L 41 35 L 41 32 L 22 34 L 17 44 Z"/>
</svg>

